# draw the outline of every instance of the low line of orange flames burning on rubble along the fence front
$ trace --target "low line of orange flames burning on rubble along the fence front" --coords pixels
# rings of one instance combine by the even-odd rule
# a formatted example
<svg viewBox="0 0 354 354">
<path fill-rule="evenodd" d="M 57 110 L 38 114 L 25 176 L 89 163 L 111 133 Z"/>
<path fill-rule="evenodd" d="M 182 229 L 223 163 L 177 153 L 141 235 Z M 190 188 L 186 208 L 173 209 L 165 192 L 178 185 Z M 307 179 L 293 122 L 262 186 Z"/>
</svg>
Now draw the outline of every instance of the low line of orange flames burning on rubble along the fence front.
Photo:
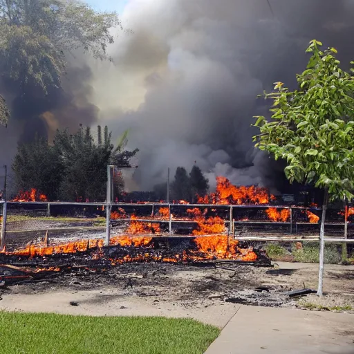
<svg viewBox="0 0 354 354">
<path fill-rule="evenodd" d="M 114 236 L 111 238 L 110 247 L 119 248 L 124 253 L 124 248 L 131 251 L 122 257 L 110 258 L 111 264 L 127 263 L 131 261 L 162 261 L 172 263 L 188 263 L 206 260 L 233 260 L 233 261 L 256 261 L 257 254 L 252 247 L 241 248 L 238 241 L 228 236 L 199 236 L 187 238 L 188 246 L 179 250 L 176 254 L 169 252 L 168 257 L 164 252 L 152 252 L 156 249 L 159 238 L 149 236 Z M 60 245 L 26 245 L 25 248 L 1 254 L 5 256 L 26 257 L 51 257 L 60 254 L 89 253 L 92 259 L 104 259 L 104 240 L 80 240 Z"/>
</svg>

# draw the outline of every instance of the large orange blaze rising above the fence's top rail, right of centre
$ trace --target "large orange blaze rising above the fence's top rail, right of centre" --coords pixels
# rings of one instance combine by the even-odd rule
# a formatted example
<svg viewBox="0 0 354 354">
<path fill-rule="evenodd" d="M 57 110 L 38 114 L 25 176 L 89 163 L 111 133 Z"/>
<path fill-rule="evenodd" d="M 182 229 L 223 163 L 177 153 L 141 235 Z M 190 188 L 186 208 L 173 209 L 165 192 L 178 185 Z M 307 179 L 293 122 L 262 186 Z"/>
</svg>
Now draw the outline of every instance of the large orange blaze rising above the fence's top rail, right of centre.
<svg viewBox="0 0 354 354">
<path fill-rule="evenodd" d="M 220 205 L 247 205 L 269 204 L 275 196 L 271 195 L 267 188 L 261 187 L 236 187 L 225 177 L 216 177 L 216 193 L 209 196 L 198 197 L 200 204 Z"/>
</svg>

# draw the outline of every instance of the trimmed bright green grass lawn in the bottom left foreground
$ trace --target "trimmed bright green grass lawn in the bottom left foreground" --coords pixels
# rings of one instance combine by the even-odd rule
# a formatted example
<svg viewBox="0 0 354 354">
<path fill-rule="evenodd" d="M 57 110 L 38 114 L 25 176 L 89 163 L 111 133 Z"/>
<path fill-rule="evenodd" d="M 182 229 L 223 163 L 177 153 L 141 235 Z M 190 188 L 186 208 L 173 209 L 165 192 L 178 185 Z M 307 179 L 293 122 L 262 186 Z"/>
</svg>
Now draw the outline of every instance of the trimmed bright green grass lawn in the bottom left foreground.
<svg viewBox="0 0 354 354">
<path fill-rule="evenodd" d="M 1 354 L 202 354 L 220 333 L 192 319 L 0 312 Z"/>
</svg>

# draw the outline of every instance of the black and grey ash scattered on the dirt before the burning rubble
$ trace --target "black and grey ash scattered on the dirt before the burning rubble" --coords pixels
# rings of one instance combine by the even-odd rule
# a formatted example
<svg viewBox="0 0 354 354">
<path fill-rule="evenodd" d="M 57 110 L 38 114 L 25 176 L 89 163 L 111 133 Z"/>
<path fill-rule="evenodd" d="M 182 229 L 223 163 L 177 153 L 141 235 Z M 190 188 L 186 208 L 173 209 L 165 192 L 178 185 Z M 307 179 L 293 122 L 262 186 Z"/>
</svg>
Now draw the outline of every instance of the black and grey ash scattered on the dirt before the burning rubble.
<svg viewBox="0 0 354 354">
<path fill-rule="evenodd" d="M 232 264 L 126 263 L 108 270 L 93 270 L 82 266 L 75 268 L 73 265 L 65 272 L 48 272 L 42 279 L 20 280 L 0 291 L 39 294 L 114 288 L 117 297 L 153 297 L 187 308 L 207 307 L 216 301 L 255 306 L 295 306 L 295 301 L 286 295 L 292 286 L 261 281 L 269 269 Z"/>
</svg>

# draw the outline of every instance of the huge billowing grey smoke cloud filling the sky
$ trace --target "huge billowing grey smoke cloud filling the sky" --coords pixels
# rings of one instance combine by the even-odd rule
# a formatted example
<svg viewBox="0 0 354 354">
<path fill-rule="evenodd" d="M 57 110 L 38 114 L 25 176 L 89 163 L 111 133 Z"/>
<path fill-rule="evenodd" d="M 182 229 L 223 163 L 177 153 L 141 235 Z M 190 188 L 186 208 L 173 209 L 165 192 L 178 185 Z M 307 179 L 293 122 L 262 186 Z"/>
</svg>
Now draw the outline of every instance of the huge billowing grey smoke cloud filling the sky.
<svg viewBox="0 0 354 354">
<path fill-rule="evenodd" d="M 174 173 L 195 163 L 211 187 L 223 175 L 237 185 L 274 190 L 281 166 L 254 151 L 252 143 L 252 116 L 268 110 L 256 97 L 276 81 L 295 87 L 311 39 L 335 46 L 344 64 L 354 59 L 354 6 L 351 0 L 270 5 L 130 0 L 122 24 L 133 32 L 109 48 L 114 64 L 73 61 L 63 91 L 40 104 L 30 97 L 33 114 L 45 127 L 77 127 L 99 118 L 113 136 L 130 129 L 129 147 L 140 149 L 135 187 L 142 190 L 165 181 L 167 167 Z M 17 96 L 6 95 L 13 104 Z M 28 115 L 25 106 L 19 110 L 17 116 Z M 1 147 L 16 136 L 19 124 L 14 119 L 5 133 L 0 128 Z"/>
</svg>

